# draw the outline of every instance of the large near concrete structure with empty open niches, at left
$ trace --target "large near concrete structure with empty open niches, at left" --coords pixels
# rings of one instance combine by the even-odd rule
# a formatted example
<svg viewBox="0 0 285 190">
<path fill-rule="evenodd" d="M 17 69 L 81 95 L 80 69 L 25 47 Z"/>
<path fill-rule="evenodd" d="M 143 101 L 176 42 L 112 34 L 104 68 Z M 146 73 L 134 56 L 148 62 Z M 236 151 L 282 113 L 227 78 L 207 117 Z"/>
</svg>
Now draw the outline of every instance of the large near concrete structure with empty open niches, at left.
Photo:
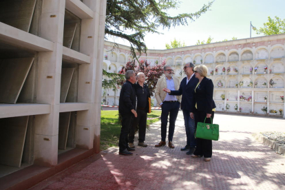
<svg viewBox="0 0 285 190">
<path fill-rule="evenodd" d="M 105 9 L 0 1 L 0 189 L 27 189 L 100 151 Z"/>
</svg>

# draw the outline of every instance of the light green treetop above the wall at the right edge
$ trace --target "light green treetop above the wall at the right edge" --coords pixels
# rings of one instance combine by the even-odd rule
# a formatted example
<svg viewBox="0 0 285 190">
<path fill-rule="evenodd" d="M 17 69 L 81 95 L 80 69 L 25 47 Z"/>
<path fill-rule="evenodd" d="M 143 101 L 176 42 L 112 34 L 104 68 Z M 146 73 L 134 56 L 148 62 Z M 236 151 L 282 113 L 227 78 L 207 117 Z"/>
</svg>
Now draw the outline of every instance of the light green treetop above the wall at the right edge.
<svg viewBox="0 0 285 190">
<path fill-rule="evenodd" d="M 285 19 L 279 19 L 275 16 L 275 19 L 268 17 L 268 22 L 263 23 L 264 27 L 260 27 L 259 30 L 256 30 L 256 34 L 264 34 L 266 36 L 273 34 L 283 34 L 285 33 Z"/>
</svg>

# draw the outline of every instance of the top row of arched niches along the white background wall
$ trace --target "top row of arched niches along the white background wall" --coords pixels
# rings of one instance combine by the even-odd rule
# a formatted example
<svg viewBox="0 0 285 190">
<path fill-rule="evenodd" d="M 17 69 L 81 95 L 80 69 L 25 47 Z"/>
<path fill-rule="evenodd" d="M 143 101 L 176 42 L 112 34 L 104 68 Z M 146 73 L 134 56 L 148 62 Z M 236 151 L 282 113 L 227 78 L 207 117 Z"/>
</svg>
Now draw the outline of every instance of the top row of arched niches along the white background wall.
<svg viewBox="0 0 285 190">
<path fill-rule="evenodd" d="M 251 61 L 251 60 L 266 60 L 266 59 L 282 59 L 285 57 L 284 45 L 273 45 L 273 47 L 257 47 L 256 50 L 245 48 L 240 50 L 229 50 L 229 52 L 205 52 L 204 55 L 198 53 L 191 56 L 167 57 L 167 65 L 181 65 L 184 63 L 208 64 L 208 63 L 223 63 L 236 61 Z"/>
</svg>

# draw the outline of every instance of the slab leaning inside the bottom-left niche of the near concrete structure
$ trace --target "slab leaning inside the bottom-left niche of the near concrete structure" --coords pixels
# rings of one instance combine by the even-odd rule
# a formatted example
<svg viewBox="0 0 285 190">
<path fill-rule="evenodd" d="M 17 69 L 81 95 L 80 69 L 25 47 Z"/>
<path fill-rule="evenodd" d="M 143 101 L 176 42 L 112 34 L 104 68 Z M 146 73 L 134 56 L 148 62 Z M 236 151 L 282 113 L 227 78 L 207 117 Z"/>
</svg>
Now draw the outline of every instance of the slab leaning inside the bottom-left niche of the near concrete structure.
<svg viewBox="0 0 285 190">
<path fill-rule="evenodd" d="M 21 167 L 28 118 L 0 119 L 0 165 Z"/>
</svg>

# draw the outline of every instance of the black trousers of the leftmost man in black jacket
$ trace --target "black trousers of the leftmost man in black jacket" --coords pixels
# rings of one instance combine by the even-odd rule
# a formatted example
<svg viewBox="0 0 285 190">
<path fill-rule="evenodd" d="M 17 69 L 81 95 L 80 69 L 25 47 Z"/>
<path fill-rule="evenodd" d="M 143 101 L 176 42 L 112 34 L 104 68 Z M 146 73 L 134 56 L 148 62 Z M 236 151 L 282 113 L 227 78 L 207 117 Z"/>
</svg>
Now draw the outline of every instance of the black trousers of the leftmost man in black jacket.
<svg viewBox="0 0 285 190">
<path fill-rule="evenodd" d="M 122 116 L 122 128 L 120 128 L 119 151 L 123 151 L 128 147 L 129 129 L 133 123 L 134 115 L 120 114 Z"/>
</svg>

